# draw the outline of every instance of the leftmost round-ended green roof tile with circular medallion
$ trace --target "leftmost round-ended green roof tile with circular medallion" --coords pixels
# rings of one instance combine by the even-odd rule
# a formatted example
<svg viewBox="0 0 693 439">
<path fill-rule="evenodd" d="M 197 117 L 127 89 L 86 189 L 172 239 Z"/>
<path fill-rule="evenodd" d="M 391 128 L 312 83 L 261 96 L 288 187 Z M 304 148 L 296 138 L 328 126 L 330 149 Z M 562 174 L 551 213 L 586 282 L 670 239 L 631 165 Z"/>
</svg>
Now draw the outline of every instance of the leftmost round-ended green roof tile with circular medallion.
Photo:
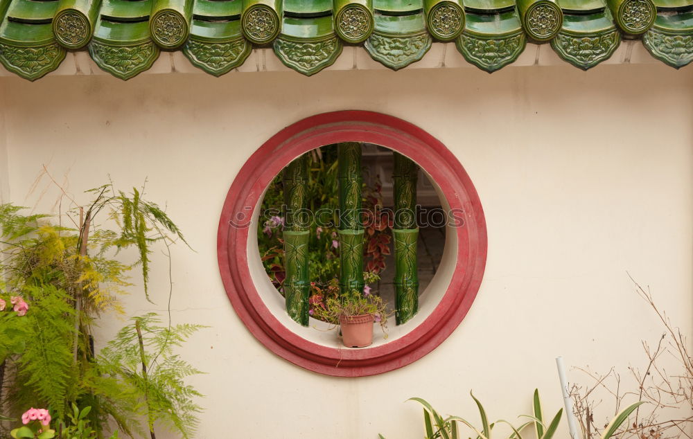
<svg viewBox="0 0 693 439">
<path fill-rule="evenodd" d="M 100 0 L 60 0 L 53 17 L 53 34 L 64 48 L 78 49 L 89 43 L 101 6 Z"/>
</svg>

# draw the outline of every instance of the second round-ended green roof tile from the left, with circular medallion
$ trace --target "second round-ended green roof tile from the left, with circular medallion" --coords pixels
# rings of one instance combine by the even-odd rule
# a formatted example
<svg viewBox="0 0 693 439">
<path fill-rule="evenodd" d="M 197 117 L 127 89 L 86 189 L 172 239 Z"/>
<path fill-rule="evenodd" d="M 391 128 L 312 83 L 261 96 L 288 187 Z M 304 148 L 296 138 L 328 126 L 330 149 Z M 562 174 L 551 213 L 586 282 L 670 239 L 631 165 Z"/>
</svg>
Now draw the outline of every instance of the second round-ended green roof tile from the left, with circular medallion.
<svg viewBox="0 0 693 439">
<path fill-rule="evenodd" d="M 161 48 L 177 48 L 190 35 L 193 0 L 154 0 L 149 30 Z"/>
</svg>

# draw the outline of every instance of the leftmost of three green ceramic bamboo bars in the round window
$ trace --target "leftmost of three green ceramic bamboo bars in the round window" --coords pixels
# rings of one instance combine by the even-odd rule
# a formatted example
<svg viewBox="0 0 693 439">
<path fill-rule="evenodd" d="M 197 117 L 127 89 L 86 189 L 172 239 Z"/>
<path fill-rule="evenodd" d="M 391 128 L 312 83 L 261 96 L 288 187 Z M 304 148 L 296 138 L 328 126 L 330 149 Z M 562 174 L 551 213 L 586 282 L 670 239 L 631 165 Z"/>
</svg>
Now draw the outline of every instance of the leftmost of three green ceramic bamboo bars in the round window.
<svg viewBox="0 0 693 439">
<path fill-rule="evenodd" d="M 285 227 L 284 239 L 284 298 L 289 316 L 308 326 L 308 226 L 302 213 L 306 208 L 308 185 L 308 156 L 292 161 L 283 172 Z"/>
</svg>

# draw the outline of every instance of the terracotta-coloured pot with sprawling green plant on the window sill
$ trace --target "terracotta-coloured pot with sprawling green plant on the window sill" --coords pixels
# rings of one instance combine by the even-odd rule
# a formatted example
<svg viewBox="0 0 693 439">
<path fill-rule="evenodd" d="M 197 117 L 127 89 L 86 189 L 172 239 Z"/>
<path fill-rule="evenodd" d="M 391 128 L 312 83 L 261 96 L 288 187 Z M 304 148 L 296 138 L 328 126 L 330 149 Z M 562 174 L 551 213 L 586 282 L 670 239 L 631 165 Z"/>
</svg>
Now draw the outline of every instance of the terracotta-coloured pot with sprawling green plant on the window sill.
<svg viewBox="0 0 693 439">
<path fill-rule="evenodd" d="M 387 307 L 383 298 L 369 292 L 353 289 L 348 294 L 328 298 L 324 305 L 315 308 L 317 319 L 339 325 L 342 343 L 347 348 L 365 348 L 373 343 L 373 323 L 380 323 L 387 337 Z"/>
</svg>

